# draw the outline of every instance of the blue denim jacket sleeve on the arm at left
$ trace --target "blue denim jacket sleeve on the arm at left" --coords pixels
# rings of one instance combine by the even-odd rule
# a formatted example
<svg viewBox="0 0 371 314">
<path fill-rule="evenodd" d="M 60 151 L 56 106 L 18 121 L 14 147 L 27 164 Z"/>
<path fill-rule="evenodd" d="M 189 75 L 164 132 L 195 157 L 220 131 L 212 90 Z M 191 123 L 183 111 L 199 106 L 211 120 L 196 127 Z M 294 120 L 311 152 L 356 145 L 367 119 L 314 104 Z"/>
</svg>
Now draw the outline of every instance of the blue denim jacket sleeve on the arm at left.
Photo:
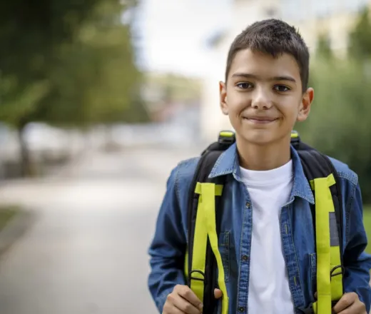
<svg viewBox="0 0 371 314">
<path fill-rule="evenodd" d="M 177 285 L 185 285 L 183 272 L 186 237 L 182 226 L 181 208 L 177 197 L 178 168 L 171 171 L 166 193 L 158 213 L 156 231 L 148 250 L 151 271 L 148 288 L 160 313 L 166 297 Z"/>
</svg>

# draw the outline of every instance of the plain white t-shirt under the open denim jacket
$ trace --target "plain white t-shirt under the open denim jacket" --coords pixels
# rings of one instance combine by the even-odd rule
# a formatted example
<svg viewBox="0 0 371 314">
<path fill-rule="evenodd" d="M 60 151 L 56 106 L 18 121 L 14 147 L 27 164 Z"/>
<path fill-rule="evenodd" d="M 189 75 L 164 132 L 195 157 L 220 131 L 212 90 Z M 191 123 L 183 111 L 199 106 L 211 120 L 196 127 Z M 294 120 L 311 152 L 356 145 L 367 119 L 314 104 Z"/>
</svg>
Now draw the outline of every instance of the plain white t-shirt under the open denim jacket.
<svg viewBox="0 0 371 314">
<path fill-rule="evenodd" d="M 248 313 L 294 314 L 280 235 L 280 209 L 293 187 L 293 161 L 269 171 L 240 172 L 253 211 Z"/>
</svg>

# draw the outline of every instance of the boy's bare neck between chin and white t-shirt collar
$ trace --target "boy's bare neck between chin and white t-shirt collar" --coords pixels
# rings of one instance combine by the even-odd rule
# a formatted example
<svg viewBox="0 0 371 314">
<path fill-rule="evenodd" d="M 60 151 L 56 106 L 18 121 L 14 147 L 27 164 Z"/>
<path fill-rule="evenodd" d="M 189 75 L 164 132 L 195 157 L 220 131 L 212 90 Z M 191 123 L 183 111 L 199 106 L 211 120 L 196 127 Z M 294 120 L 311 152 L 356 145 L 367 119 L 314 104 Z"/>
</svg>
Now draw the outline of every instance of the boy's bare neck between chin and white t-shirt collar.
<svg viewBox="0 0 371 314">
<path fill-rule="evenodd" d="M 267 171 L 285 165 L 291 159 L 290 140 L 269 146 L 237 141 L 240 166 L 254 171 Z"/>
</svg>

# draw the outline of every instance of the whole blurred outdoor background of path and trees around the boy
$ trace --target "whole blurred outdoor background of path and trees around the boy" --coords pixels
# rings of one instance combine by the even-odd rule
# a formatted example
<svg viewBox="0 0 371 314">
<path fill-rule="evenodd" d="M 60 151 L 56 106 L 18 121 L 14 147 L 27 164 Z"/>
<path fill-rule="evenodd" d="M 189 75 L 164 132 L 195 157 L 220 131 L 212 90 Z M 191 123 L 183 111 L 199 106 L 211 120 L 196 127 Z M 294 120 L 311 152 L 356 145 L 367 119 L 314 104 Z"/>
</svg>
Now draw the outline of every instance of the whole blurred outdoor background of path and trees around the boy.
<svg viewBox="0 0 371 314">
<path fill-rule="evenodd" d="M 310 47 L 315 102 L 297 129 L 358 173 L 371 236 L 370 9 L 1 1 L 1 314 L 156 313 L 147 250 L 166 178 L 231 128 L 218 81 L 234 37 L 260 19 L 297 26 Z"/>
</svg>

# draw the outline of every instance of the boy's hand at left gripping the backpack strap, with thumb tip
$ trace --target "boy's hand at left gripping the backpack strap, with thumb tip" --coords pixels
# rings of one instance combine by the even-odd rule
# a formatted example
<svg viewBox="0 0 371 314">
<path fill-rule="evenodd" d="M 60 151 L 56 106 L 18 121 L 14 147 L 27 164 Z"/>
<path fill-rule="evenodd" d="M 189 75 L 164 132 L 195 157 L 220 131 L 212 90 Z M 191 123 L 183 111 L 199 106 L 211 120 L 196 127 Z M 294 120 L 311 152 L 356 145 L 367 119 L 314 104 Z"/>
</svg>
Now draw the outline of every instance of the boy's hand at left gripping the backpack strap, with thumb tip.
<svg viewBox="0 0 371 314">
<path fill-rule="evenodd" d="M 222 292 L 215 289 L 214 295 L 218 299 Z M 202 308 L 203 304 L 188 285 L 176 285 L 163 305 L 163 314 L 201 314 Z"/>
</svg>

